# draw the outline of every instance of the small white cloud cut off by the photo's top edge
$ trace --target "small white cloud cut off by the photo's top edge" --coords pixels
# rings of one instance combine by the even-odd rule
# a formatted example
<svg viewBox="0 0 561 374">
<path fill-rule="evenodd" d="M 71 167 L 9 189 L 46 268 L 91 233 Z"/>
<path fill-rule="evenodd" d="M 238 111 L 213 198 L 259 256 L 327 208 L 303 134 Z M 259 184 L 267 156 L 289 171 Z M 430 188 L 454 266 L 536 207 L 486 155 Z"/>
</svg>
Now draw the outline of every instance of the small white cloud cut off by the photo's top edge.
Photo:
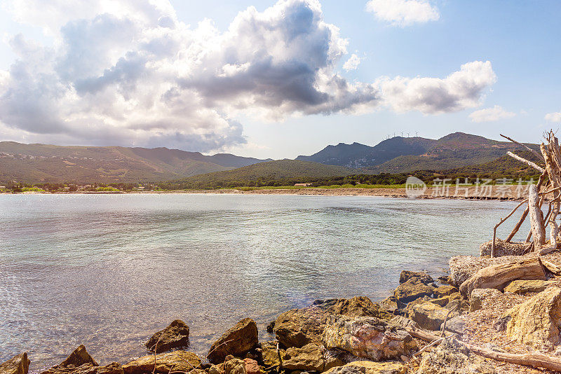
<svg viewBox="0 0 561 374">
<path fill-rule="evenodd" d="M 426 0 L 370 0 L 366 10 L 374 13 L 379 20 L 400 27 L 440 18 L 438 8 Z"/>
</svg>

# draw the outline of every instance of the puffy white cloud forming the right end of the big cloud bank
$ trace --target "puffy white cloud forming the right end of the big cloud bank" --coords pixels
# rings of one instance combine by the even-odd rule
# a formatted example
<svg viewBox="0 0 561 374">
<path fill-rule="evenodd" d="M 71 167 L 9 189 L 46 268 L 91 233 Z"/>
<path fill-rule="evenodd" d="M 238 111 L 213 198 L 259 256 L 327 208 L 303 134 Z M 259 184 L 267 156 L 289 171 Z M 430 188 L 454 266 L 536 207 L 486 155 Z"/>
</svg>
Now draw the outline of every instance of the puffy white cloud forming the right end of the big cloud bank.
<svg viewBox="0 0 561 374">
<path fill-rule="evenodd" d="M 446 78 L 381 78 L 379 86 L 385 104 L 395 111 L 438 114 L 479 106 L 495 81 L 491 62 L 474 61 Z"/>
</svg>

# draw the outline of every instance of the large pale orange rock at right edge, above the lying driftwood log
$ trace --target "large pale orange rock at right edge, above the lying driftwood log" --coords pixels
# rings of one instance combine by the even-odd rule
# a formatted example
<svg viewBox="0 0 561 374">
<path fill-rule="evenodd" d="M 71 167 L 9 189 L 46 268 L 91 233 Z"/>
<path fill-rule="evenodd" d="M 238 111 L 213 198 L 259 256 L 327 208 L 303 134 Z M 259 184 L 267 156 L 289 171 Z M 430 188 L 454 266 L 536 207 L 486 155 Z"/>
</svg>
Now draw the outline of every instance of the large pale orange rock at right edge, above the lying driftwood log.
<svg viewBox="0 0 561 374">
<path fill-rule="evenodd" d="M 508 310 L 506 333 L 537 348 L 553 347 L 560 340 L 561 288 L 550 287 Z"/>
</svg>

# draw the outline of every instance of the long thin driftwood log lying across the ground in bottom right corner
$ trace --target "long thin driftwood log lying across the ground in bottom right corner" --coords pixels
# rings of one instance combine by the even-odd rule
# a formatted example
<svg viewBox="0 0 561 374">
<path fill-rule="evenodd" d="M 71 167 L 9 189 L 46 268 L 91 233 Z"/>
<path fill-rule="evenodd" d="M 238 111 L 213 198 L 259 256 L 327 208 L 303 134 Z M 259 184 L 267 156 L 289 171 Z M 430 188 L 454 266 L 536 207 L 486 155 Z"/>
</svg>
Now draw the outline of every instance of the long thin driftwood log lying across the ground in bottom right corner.
<svg viewBox="0 0 561 374">
<path fill-rule="evenodd" d="M 416 328 L 414 326 L 403 326 L 403 328 L 405 328 L 405 330 L 415 338 L 425 340 L 426 342 L 433 342 L 440 338 L 437 335 L 429 333 L 428 331 L 421 330 L 421 328 Z M 459 342 L 465 345 L 471 352 L 475 354 L 479 354 L 480 356 L 483 357 L 487 357 L 487 359 L 494 359 L 496 361 L 501 361 L 501 362 L 515 363 L 517 365 L 532 366 L 532 368 L 544 368 L 548 370 L 561 371 L 561 358 L 559 357 L 549 356 L 548 354 L 542 354 L 539 352 L 533 352 L 527 354 L 496 352 L 492 349 L 478 347 L 477 345 L 469 344 L 462 341 Z"/>
</svg>

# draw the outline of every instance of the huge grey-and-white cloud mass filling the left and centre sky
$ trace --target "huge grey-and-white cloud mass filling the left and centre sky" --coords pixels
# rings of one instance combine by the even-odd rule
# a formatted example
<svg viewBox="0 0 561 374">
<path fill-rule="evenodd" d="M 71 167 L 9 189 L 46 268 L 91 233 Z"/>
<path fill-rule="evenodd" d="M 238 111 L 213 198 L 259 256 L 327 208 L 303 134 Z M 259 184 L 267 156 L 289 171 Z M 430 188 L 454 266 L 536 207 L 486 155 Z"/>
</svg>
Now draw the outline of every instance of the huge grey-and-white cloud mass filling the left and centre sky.
<svg viewBox="0 0 561 374">
<path fill-rule="evenodd" d="M 470 62 L 447 78 L 351 83 L 336 69 L 348 42 L 317 0 L 250 7 L 225 32 L 185 25 L 164 0 L 6 7 L 54 40 L 13 36 L 18 59 L 0 71 L 0 132 L 28 141 L 212 151 L 245 144 L 241 116 L 459 111 L 495 80 L 490 62 Z"/>
</svg>

